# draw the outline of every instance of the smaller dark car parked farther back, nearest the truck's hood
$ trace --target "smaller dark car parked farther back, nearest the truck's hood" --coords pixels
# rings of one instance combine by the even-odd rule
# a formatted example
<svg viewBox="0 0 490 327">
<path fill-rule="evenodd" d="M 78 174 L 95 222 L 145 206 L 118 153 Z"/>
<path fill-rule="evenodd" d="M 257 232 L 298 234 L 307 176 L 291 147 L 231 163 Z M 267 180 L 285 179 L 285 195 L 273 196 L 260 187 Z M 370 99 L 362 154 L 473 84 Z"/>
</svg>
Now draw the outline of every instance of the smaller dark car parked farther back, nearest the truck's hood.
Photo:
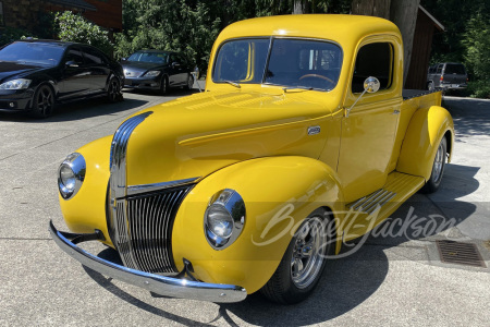
<svg viewBox="0 0 490 327">
<path fill-rule="evenodd" d="M 169 87 L 194 84 L 192 70 L 184 56 L 172 51 L 140 50 L 123 59 L 124 87 L 145 88 L 167 94 Z"/>
</svg>

